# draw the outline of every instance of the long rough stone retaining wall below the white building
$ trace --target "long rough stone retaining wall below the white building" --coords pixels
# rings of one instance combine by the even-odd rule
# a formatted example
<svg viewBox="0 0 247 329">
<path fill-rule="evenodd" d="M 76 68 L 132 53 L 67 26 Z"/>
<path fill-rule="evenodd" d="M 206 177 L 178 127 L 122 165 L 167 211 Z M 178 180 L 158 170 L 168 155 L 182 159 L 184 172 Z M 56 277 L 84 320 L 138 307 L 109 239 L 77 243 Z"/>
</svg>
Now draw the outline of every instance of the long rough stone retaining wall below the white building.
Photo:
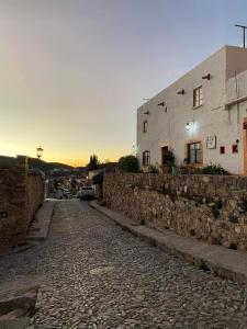
<svg viewBox="0 0 247 329">
<path fill-rule="evenodd" d="M 106 173 L 106 206 L 137 224 L 247 250 L 247 178 Z"/>
</svg>

